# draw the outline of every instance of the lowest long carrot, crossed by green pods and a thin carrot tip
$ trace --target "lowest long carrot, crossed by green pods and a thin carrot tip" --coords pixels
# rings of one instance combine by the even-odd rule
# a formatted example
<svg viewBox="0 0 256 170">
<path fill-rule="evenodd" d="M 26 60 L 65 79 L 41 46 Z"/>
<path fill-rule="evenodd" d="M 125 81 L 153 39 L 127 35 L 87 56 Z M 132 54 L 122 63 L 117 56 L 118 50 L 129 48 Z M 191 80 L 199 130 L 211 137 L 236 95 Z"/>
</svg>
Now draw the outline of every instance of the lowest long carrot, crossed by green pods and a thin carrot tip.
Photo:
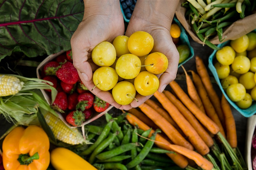
<svg viewBox="0 0 256 170">
<path fill-rule="evenodd" d="M 144 122 L 142 122 L 141 120 L 139 120 L 136 116 L 131 115 L 131 114 L 127 114 L 126 115 L 126 119 L 128 120 L 128 122 L 130 122 L 132 125 L 136 126 L 138 125 L 139 129 L 142 130 L 148 130 L 150 129 L 149 126 L 147 126 Z M 151 130 L 150 135 L 148 137 L 151 137 L 152 134 L 154 133 L 154 130 Z M 164 139 L 163 137 L 161 137 L 161 135 L 156 134 L 156 138 L 155 138 L 156 142 L 155 144 L 161 148 L 161 149 L 166 149 L 169 151 L 173 151 L 172 149 L 170 149 L 167 145 L 162 144 L 162 143 L 166 143 L 166 144 L 170 144 L 166 139 Z M 187 159 L 179 154 L 179 153 L 167 153 L 167 155 L 173 160 L 173 162 L 175 164 L 177 164 L 180 168 L 186 168 L 186 166 L 188 165 L 188 161 Z"/>
</svg>

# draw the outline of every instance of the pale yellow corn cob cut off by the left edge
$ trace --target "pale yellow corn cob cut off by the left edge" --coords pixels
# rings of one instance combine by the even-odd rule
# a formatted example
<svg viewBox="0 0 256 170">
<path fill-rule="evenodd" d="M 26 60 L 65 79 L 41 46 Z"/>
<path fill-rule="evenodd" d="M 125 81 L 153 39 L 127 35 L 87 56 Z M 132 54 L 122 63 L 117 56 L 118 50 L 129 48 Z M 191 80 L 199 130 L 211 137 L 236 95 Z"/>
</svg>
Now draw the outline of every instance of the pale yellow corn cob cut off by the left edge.
<svg viewBox="0 0 256 170">
<path fill-rule="evenodd" d="M 17 77 L 0 74 L 0 97 L 17 94 L 23 85 L 24 82 Z"/>
</svg>

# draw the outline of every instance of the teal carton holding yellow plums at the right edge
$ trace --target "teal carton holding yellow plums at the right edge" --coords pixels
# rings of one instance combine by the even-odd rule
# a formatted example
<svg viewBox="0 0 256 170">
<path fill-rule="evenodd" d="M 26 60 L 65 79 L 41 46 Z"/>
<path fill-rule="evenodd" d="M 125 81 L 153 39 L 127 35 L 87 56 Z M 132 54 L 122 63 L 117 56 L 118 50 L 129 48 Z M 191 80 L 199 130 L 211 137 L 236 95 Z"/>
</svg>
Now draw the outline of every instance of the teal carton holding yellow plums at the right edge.
<svg viewBox="0 0 256 170">
<path fill-rule="evenodd" d="M 256 33 L 256 30 L 254 30 L 253 32 Z M 222 43 L 222 44 L 219 44 L 218 47 L 219 47 L 219 48 L 222 48 L 222 47 L 224 47 L 224 46 L 228 46 L 229 43 L 230 43 L 230 41 L 226 41 L 226 42 L 224 42 L 224 43 Z M 214 50 L 213 53 L 210 55 L 210 57 L 209 57 L 209 59 L 208 59 L 208 62 L 209 62 L 208 67 L 209 67 L 209 69 L 211 70 L 211 72 L 212 72 L 212 74 L 213 74 L 213 76 L 214 76 L 214 78 L 215 78 L 217 84 L 219 85 L 219 88 L 220 88 L 221 92 L 224 94 L 225 98 L 226 98 L 227 101 L 231 104 L 231 106 L 233 106 L 239 113 L 241 113 L 241 115 L 243 115 L 244 117 L 251 117 L 252 115 L 254 115 L 254 114 L 256 113 L 256 101 L 253 100 L 253 101 L 252 101 L 252 106 L 250 106 L 249 108 L 247 108 L 247 109 L 241 109 L 241 108 L 239 108 L 239 107 L 235 104 L 235 102 L 231 101 L 231 100 L 228 98 L 226 92 L 225 92 L 225 91 L 223 90 L 223 88 L 222 88 L 222 85 L 221 85 L 221 83 L 220 83 L 220 80 L 219 80 L 217 71 L 216 71 L 216 69 L 215 69 L 215 67 L 214 67 L 214 65 L 213 65 L 213 60 L 214 60 L 214 58 L 215 58 L 216 52 L 217 52 L 217 50 Z"/>
</svg>

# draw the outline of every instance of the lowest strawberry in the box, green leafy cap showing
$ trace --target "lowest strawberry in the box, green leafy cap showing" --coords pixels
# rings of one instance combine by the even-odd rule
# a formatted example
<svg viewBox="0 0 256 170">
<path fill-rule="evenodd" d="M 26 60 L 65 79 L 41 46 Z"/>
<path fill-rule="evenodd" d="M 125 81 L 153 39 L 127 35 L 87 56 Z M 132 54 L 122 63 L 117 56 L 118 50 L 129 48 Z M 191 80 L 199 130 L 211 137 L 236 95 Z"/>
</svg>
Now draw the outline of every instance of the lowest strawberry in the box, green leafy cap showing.
<svg viewBox="0 0 256 170">
<path fill-rule="evenodd" d="M 78 110 L 71 111 L 66 116 L 66 121 L 72 126 L 80 126 L 85 121 L 85 114 Z"/>
</svg>

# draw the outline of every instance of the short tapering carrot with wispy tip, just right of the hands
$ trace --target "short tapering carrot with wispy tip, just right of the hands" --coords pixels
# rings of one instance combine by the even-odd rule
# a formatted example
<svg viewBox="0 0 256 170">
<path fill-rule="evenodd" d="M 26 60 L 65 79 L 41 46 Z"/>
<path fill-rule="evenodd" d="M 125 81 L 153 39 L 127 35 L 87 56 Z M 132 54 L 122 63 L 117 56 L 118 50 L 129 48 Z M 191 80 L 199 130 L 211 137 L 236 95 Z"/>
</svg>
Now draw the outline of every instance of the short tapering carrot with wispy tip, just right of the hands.
<svg viewBox="0 0 256 170">
<path fill-rule="evenodd" d="M 196 91 L 196 88 L 194 86 L 194 83 L 193 83 L 192 79 L 187 74 L 187 71 L 185 70 L 183 65 L 181 65 L 181 67 L 184 70 L 185 75 L 186 75 L 187 92 L 188 92 L 188 95 L 189 95 L 190 99 L 192 101 L 194 101 L 196 106 L 198 106 L 202 110 L 203 113 L 205 113 L 205 110 L 204 110 L 204 107 L 203 107 L 203 104 L 202 104 L 202 100 L 200 99 L 200 97 L 199 97 L 199 95 Z"/>
</svg>

